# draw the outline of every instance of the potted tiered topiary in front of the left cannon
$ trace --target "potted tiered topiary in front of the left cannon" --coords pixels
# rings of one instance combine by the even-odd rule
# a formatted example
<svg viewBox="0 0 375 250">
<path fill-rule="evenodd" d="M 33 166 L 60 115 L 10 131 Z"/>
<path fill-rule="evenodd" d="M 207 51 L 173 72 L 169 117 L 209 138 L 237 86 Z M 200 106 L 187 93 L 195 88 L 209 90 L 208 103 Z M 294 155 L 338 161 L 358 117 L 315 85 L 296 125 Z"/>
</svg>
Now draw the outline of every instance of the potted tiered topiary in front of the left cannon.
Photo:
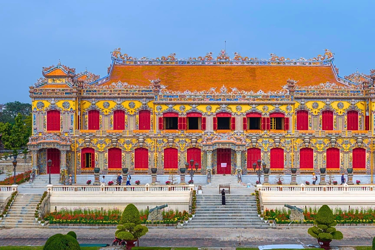
<svg viewBox="0 0 375 250">
<path fill-rule="evenodd" d="M 115 233 L 117 238 L 126 242 L 126 250 L 131 250 L 135 242 L 148 232 L 141 223 L 139 210 L 133 204 L 127 205 Z"/>
</svg>

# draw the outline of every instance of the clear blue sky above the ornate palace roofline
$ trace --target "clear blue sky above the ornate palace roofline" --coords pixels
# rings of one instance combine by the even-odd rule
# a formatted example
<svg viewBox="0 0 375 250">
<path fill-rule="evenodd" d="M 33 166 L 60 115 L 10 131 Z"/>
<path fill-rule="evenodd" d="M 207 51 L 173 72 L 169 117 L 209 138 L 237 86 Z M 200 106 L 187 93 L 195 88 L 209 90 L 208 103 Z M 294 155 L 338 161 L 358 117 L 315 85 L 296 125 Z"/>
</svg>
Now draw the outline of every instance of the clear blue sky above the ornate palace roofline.
<svg viewBox="0 0 375 250">
<path fill-rule="evenodd" d="M 329 48 L 339 75 L 375 68 L 375 1 L 2 1 L 0 103 L 31 102 L 42 67 L 106 75 L 110 52 L 133 57 L 311 58 Z"/>
</svg>

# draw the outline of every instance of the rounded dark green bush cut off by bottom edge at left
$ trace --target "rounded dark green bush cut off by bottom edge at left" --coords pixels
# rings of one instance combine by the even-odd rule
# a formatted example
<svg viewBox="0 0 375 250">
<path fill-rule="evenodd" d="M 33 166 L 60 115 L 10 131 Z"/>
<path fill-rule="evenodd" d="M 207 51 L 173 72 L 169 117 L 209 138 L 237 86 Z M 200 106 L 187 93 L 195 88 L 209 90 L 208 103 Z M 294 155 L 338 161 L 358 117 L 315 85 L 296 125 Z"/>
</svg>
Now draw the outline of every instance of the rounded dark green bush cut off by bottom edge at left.
<svg viewBox="0 0 375 250">
<path fill-rule="evenodd" d="M 58 233 L 48 238 L 43 246 L 43 250 L 81 250 L 81 247 L 71 234 L 64 235 Z"/>
</svg>

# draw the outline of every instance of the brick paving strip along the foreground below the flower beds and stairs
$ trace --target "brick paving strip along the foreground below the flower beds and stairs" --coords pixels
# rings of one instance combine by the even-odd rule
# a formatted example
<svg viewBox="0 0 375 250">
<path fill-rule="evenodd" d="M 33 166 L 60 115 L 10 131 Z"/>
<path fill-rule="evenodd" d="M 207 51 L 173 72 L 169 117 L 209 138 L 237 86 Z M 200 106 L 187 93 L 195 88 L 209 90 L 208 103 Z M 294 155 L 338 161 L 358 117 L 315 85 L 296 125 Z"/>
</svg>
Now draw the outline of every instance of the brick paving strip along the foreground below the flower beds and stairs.
<svg viewBox="0 0 375 250">
<path fill-rule="evenodd" d="M 375 227 L 337 227 L 344 240 L 333 241 L 333 246 L 370 246 Z M 116 229 L 0 229 L 0 246 L 42 246 L 49 236 L 74 230 L 82 244 L 111 244 Z M 317 242 L 307 234 L 307 228 L 291 229 L 167 229 L 150 228 L 139 246 L 144 247 L 238 247 L 267 244 L 305 244 Z"/>
</svg>

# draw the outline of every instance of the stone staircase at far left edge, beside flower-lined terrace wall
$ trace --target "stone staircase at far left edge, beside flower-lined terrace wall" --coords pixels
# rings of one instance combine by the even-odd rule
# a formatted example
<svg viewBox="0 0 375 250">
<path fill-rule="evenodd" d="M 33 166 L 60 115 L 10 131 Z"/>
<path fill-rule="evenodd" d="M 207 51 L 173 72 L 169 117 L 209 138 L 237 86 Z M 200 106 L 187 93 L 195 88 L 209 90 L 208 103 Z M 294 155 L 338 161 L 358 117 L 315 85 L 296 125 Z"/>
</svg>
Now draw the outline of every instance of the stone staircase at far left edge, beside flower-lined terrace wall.
<svg viewBox="0 0 375 250">
<path fill-rule="evenodd" d="M 6 217 L 0 221 L 1 228 L 35 228 L 41 227 L 35 221 L 35 209 L 42 194 L 18 194 L 9 208 Z"/>
</svg>

